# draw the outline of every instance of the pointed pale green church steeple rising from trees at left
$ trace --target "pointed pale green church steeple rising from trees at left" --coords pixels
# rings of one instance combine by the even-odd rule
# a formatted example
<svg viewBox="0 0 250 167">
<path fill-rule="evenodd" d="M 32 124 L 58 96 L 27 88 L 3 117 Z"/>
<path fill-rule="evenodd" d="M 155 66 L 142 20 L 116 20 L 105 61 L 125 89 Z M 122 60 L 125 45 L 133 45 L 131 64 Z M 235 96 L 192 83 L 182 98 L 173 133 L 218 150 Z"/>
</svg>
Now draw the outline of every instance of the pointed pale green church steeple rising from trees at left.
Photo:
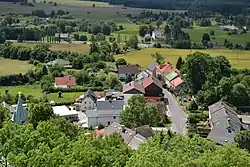
<svg viewBox="0 0 250 167">
<path fill-rule="evenodd" d="M 22 125 L 28 120 L 28 111 L 23 107 L 23 100 L 21 98 L 22 93 L 18 92 L 18 95 L 17 108 L 13 114 L 12 121 Z"/>
</svg>

